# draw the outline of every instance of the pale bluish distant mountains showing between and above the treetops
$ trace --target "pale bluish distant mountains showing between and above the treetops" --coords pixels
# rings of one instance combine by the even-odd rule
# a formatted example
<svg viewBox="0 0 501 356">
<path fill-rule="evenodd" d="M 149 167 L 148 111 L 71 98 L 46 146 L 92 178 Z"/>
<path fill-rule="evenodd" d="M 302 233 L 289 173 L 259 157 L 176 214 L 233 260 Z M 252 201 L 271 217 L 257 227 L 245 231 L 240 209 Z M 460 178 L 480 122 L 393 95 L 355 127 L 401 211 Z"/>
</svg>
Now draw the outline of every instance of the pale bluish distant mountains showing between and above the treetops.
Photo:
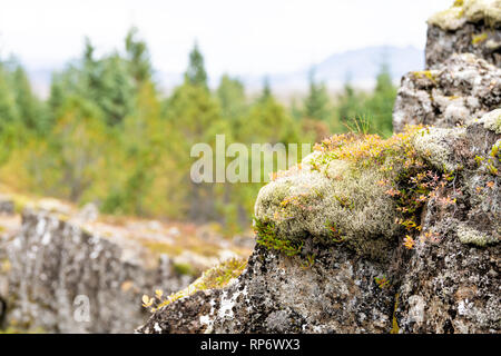
<svg viewBox="0 0 501 356">
<path fill-rule="evenodd" d="M 346 79 L 355 87 L 367 89 L 374 86 L 374 79 L 383 61 L 390 65 L 392 78 L 397 82 L 407 71 L 424 68 L 424 51 L 415 47 L 379 46 L 335 53 L 314 66 L 315 77 L 325 81 L 330 90 L 340 89 Z M 55 69 L 60 68 L 28 67 L 33 87 L 42 97 L 49 93 L 51 72 Z M 288 97 L 307 90 L 310 70 L 311 67 L 293 72 L 272 73 L 268 78 L 277 95 Z M 239 76 L 249 93 L 261 90 L 264 77 L 265 75 Z M 157 72 L 155 78 L 166 91 L 170 91 L 183 81 L 183 75 L 171 72 Z M 219 78 L 210 78 L 212 87 L 218 82 Z"/>
</svg>

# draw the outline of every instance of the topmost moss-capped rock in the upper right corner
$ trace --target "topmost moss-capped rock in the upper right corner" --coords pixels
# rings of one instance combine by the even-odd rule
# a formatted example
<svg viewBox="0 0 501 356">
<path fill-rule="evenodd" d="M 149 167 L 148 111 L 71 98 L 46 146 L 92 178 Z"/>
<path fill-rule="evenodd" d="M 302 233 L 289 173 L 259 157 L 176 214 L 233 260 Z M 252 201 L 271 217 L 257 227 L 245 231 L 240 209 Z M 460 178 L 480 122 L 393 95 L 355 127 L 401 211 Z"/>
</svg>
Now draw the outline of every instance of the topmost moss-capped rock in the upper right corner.
<svg viewBox="0 0 501 356">
<path fill-rule="evenodd" d="M 501 1 L 455 1 L 432 16 L 426 40 L 426 68 L 440 66 L 453 53 L 474 53 L 501 68 Z"/>
</svg>

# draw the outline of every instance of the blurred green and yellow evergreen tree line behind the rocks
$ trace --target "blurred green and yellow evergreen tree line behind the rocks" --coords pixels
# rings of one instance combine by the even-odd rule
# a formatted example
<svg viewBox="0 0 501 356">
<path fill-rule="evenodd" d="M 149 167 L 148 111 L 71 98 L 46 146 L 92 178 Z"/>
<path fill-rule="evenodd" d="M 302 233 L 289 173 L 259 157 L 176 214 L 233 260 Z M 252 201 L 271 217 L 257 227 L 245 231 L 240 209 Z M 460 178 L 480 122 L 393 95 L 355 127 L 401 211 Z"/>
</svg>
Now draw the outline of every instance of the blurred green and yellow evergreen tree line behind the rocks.
<svg viewBox="0 0 501 356">
<path fill-rule="evenodd" d="M 97 202 L 104 212 L 248 226 L 261 184 L 194 184 L 196 142 L 315 142 L 366 118 L 370 132 L 392 132 L 396 88 L 383 65 L 372 92 L 347 81 L 333 97 L 310 75 L 310 92 L 291 106 L 267 80 L 250 98 L 227 75 L 210 90 L 195 44 L 184 81 L 165 97 L 135 28 L 122 51 L 97 58 L 86 40 L 78 61 L 52 76 L 40 100 L 16 59 L 0 60 L 0 177 L 14 189 Z"/>
</svg>

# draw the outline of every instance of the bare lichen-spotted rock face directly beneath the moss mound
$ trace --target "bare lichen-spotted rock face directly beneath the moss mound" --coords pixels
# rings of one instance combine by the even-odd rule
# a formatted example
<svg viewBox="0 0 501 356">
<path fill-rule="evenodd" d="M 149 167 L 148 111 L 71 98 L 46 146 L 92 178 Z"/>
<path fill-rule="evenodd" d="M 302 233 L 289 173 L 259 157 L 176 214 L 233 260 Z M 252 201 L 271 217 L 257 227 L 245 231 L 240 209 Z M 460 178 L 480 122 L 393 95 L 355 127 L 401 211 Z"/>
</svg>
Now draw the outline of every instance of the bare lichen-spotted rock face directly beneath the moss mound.
<svg viewBox="0 0 501 356">
<path fill-rule="evenodd" d="M 332 248 L 305 266 L 257 247 L 225 289 L 199 290 L 155 313 L 138 333 L 384 333 L 394 298 L 385 265 Z"/>
</svg>

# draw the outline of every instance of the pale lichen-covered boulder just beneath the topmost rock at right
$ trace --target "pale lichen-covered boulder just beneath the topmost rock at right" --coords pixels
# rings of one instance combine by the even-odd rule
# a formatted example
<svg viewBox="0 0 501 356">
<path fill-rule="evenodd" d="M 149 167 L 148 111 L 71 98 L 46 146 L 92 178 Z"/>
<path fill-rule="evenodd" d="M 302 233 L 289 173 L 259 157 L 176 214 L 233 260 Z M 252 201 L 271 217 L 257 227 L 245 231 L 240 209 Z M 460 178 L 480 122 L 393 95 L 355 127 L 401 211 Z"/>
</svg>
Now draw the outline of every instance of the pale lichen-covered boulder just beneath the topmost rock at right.
<svg viewBox="0 0 501 356">
<path fill-rule="evenodd" d="M 481 118 L 501 106 L 501 69 L 471 53 L 453 55 L 432 70 L 402 78 L 393 109 L 393 128 L 431 125 L 451 128 Z"/>
</svg>

